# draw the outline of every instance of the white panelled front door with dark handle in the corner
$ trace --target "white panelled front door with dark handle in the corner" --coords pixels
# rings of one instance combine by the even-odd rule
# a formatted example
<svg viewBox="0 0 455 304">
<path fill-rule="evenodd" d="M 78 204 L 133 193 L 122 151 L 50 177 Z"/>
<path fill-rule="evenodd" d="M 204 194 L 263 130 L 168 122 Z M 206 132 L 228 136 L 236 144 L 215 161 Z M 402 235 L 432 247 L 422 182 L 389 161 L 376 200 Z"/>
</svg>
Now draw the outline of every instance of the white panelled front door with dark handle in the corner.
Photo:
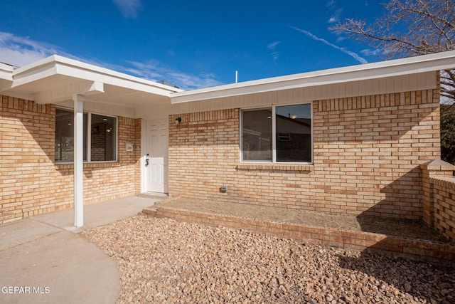
<svg viewBox="0 0 455 304">
<path fill-rule="evenodd" d="M 168 193 L 168 120 L 147 120 L 145 190 Z"/>
</svg>

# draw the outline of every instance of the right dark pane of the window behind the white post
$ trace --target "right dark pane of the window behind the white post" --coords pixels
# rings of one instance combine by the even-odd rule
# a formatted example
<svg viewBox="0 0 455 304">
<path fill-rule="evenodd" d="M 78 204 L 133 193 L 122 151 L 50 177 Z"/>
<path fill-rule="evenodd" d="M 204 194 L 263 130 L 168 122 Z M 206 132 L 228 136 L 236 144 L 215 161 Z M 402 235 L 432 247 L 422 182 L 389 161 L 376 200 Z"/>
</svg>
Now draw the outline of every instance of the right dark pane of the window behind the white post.
<svg viewBox="0 0 455 304">
<path fill-rule="evenodd" d="M 92 114 L 91 150 L 92 162 L 116 160 L 117 119 L 114 117 Z"/>
</svg>

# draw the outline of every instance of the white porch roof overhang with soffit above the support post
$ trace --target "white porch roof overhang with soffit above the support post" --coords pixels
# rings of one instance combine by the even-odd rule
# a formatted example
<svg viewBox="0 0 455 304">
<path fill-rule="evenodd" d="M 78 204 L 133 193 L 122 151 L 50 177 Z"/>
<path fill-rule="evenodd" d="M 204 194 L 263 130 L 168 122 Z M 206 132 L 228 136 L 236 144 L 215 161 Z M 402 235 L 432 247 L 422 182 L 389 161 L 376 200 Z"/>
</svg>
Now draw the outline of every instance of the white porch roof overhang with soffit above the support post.
<svg viewBox="0 0 455 304">
<path fill-rule="evenodd" d="M 84 95 L 85 100 L 97 103 L 134 107 L 168 103 L 171 93 L 181 91 L 56 55 L 21 68 L 11 67 L 5 73 L 2 68 L 0 65 L 0 93 L 39 104 L 59 103 L 73 95 Z"/>
</svg>

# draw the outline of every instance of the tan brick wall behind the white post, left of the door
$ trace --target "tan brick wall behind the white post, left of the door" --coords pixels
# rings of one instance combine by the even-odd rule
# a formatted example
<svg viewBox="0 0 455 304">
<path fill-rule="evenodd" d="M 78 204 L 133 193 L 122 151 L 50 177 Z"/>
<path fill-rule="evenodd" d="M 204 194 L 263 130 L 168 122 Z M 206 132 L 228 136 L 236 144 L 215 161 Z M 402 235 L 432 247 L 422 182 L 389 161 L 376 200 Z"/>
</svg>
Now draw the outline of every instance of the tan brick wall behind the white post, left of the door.
<svg viewBox="0 0 455 304">
<path fill-rule="evenodd" d="M 0 224 L 72 207 L 73 164 L 53 161 L 55 106 L 0 100 Z M 118 124 L 119 162 L 84 164 L 85 204 L 140 191 L 140 120 L 118 117 Z"/>
</svg>

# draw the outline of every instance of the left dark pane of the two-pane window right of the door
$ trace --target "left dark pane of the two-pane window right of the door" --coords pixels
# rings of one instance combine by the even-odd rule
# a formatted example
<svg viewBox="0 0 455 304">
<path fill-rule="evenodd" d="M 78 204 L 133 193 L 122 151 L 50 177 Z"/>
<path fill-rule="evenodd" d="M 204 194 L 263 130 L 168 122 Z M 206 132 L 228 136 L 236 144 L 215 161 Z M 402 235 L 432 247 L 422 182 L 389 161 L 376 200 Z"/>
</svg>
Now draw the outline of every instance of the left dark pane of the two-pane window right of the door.
<svg viewBox="0 0 455 304">
<path fill-rule="evenodd" d="M 242 114 L 242 160 L 272 162 L 272 109 Z"/>
</svg>

